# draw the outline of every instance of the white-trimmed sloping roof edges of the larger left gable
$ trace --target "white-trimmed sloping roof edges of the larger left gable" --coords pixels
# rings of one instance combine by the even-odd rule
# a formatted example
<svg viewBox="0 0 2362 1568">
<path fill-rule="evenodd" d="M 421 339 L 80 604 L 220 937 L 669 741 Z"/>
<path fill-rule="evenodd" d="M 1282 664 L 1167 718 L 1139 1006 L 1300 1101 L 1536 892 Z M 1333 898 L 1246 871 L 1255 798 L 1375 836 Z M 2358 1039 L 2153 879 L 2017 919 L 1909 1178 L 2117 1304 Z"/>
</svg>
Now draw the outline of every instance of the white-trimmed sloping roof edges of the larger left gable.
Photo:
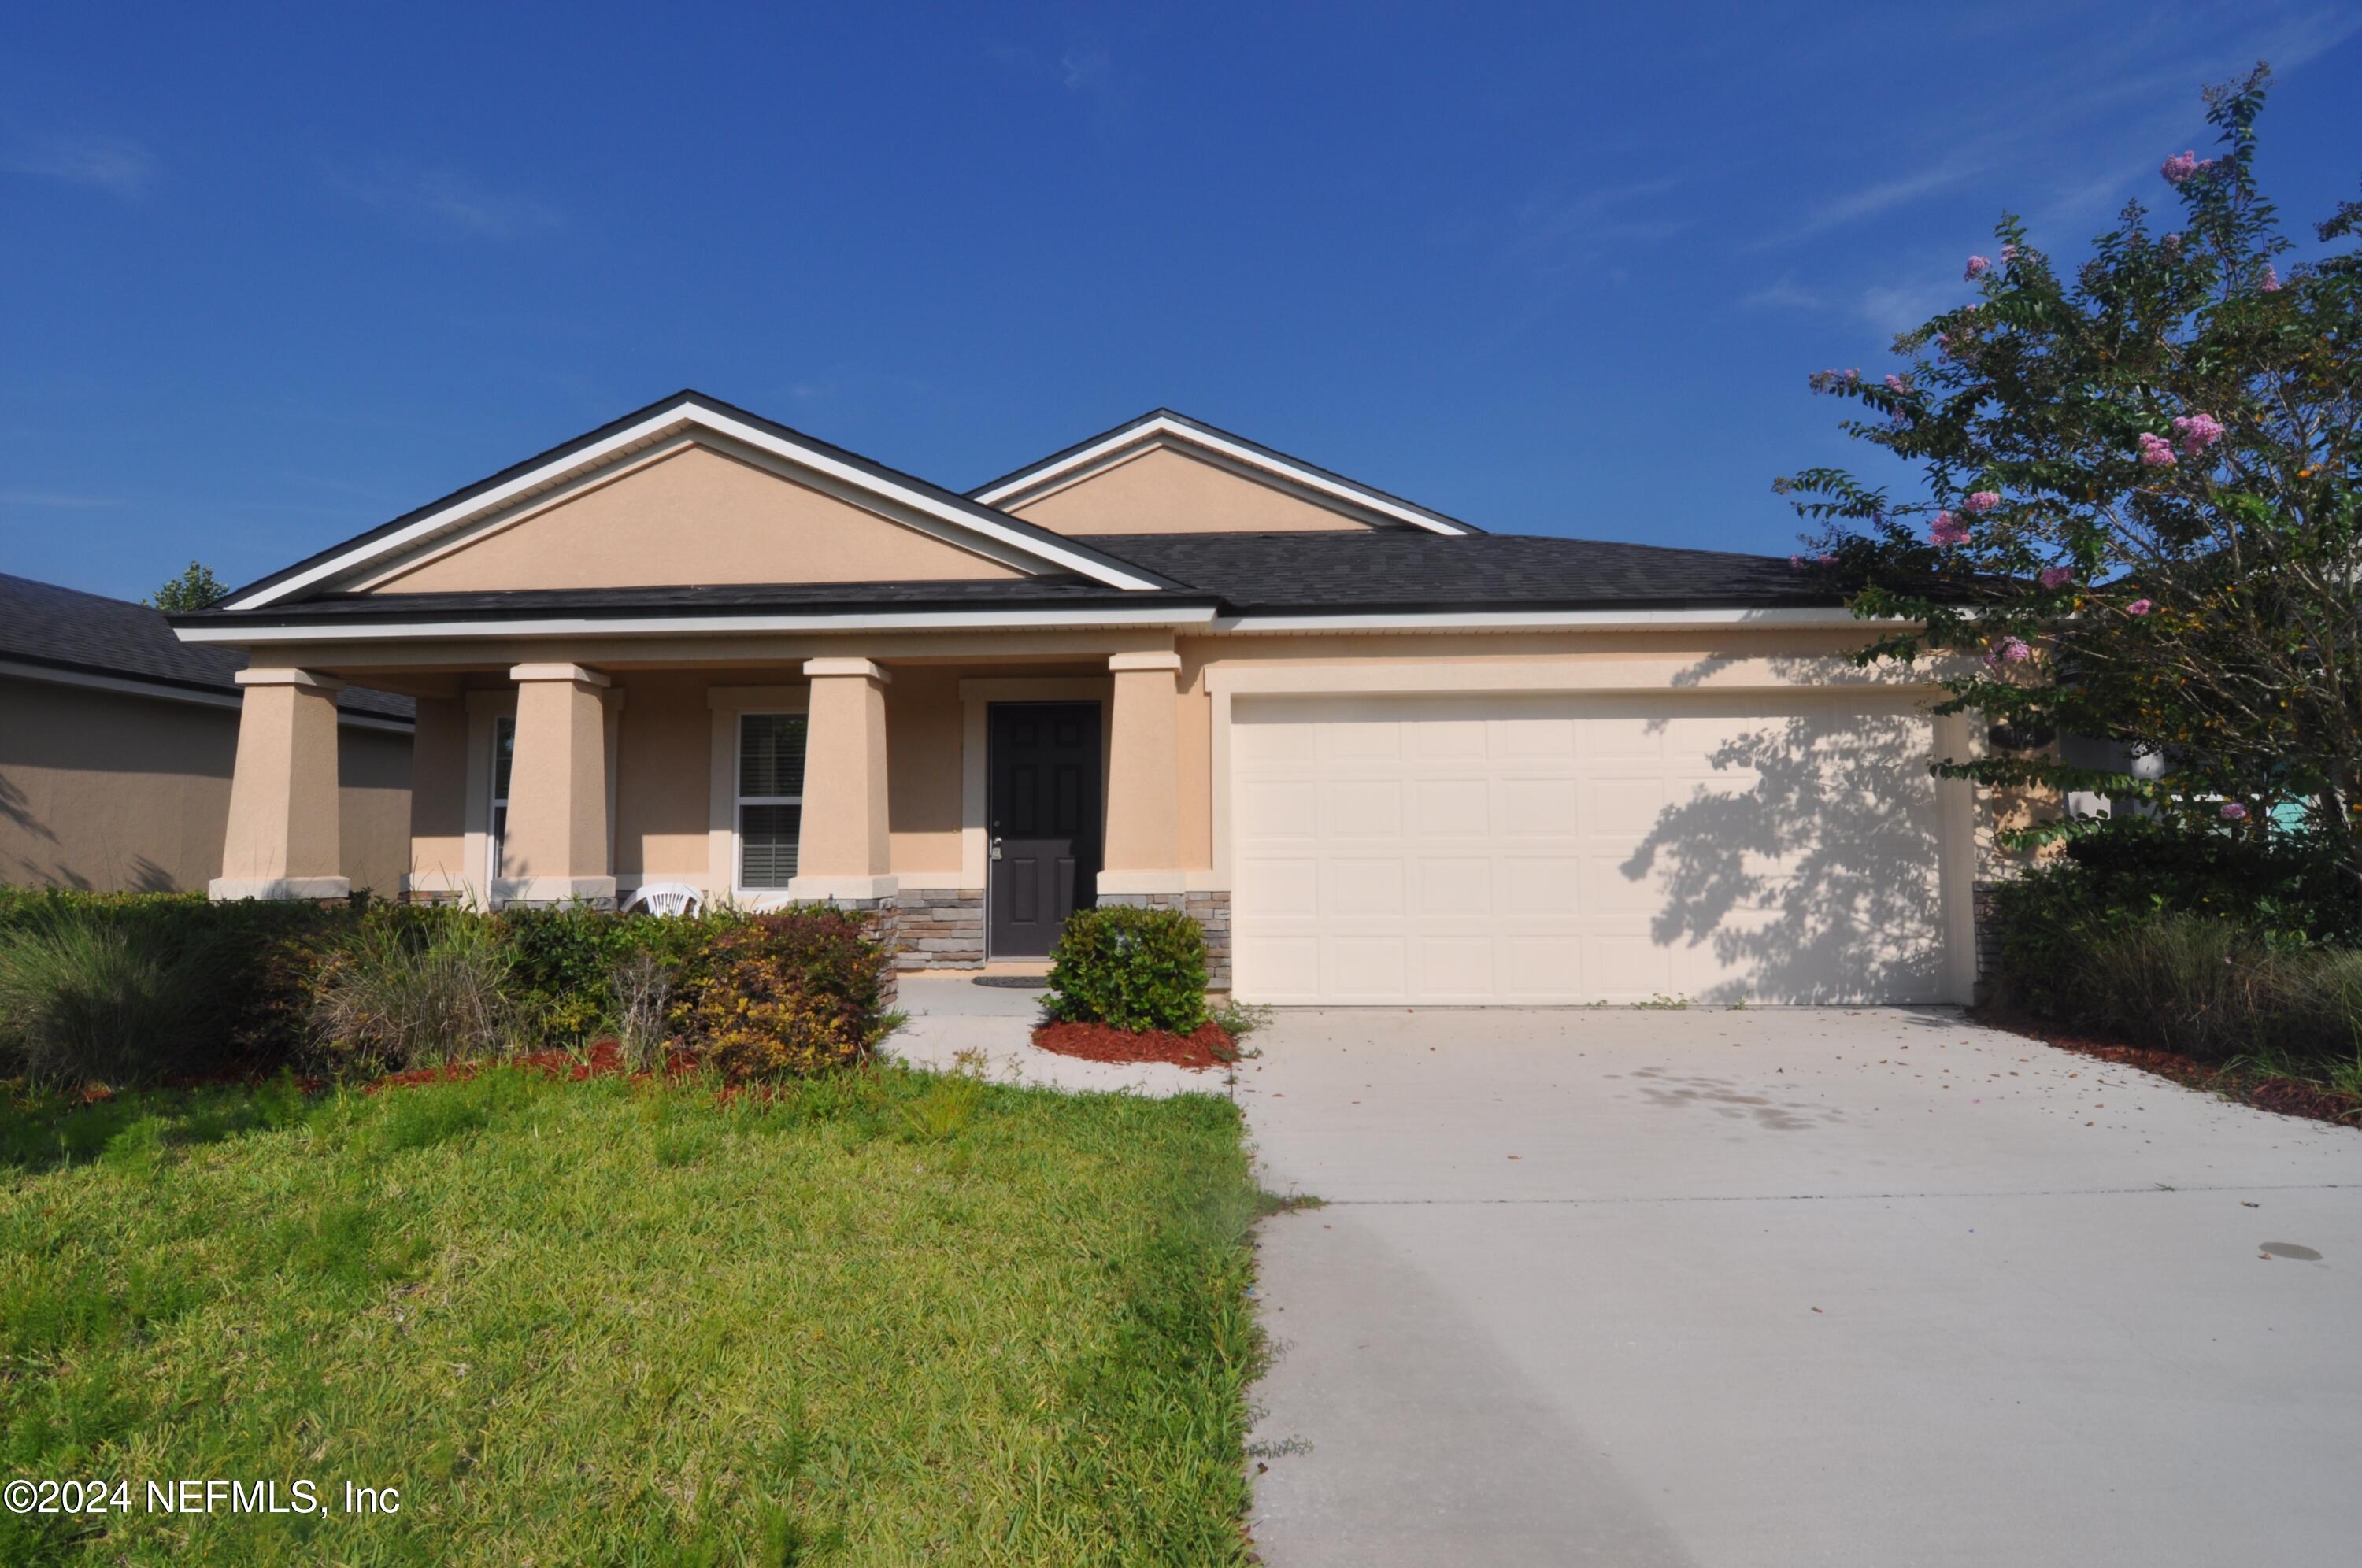
<svg viewBox="0 0 2362 1568">
<path fill-rule="evenodd" d="M 992 555 L 1016 555 L 1042 571 L 1072 571 L 1108 588 L 1153 590 L 1172 588 L 1150 571 L 1143 571 L 1113 553 L 1079 545 L 1063 534 L 1023 522 L 990 505 L 928 484 L 914 475 L 872 463 L 843 446 L 831 446 L 746 409 L 683 390 L 635 409 L 619 420 L 553 446 L 524 463 L 515 463 L 458 489 L 442 501 L 404 512 L 366 534 L 357 534 L 340 545 L 309 555 L 283 571 L 253 581 L 222 600 L 224 609 L 262 609 L 305 593 L 333 588 L 338 579 L 385 562 L 430 538 L 446 536 L 477 517 L 501 510 L 524 496 L 539 494 L 583 470 L 598 468 L 628 451 L 652 446 L 680 432 L 709 432 L 742 442 L 789 463 L 829 475 L 841 484 L 869 491 L 895 503 L 900 510 L 942 527 L 952 536 L 968 536 Z"/>
</svg>

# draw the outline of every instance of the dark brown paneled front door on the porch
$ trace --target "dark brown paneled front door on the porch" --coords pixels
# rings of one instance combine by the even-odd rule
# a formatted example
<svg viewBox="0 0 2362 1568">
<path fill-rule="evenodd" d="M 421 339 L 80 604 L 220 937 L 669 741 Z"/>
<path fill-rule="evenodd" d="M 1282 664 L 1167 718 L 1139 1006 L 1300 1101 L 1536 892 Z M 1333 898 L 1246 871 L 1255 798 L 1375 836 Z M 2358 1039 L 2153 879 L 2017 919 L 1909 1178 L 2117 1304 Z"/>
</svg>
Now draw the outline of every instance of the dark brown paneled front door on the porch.
<svg viewBox="0 0 2362 1568">
<path fill-rule="evenodd" d="M 1098 897 L 1098 704 L 997 701 L 990 914 L 994 959 L 1039 959 Z"/>
</svg>

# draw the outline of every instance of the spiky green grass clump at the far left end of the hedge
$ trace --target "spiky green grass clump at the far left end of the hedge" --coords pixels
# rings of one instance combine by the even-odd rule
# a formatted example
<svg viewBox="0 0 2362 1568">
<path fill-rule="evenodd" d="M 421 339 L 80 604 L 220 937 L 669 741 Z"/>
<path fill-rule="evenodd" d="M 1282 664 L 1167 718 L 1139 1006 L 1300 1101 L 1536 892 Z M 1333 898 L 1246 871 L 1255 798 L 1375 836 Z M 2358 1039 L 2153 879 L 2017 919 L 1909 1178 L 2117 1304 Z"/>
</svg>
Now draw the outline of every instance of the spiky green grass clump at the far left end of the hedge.
<svg viewBox="0 0 2362 1568">
<path fill-rule="evenodd" d="M 210 940 L 87 912 L 0 930 L 0 1067 L 43 1084 L 139 1084 L 224 1056 Z"/>
</svg>

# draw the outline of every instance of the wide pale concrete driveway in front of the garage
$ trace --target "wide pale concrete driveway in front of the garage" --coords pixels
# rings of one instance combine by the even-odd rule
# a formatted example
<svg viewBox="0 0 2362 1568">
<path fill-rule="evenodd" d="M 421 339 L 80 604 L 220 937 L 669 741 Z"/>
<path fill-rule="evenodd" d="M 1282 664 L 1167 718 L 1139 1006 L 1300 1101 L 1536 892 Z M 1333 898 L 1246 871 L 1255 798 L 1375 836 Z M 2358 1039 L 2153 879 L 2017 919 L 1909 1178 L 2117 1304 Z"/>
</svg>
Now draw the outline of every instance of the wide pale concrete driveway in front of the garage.
<svg viewBox="0 0 2362 1568">
<path fill-rule="evenodd" d="M 1953 1013 L 1257 1044 L 1275 1568 L 2353 1561 L 2362 1131 Z"/>
</svg>

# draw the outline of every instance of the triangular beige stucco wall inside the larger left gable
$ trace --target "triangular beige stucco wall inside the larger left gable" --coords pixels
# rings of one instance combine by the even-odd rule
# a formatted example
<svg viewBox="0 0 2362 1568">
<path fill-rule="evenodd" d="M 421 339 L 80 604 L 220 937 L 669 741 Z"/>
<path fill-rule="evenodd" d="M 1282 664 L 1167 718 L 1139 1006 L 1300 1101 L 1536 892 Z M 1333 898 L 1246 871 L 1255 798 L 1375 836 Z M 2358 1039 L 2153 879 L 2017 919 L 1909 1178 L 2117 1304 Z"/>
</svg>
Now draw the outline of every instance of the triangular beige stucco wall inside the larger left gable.
<svg viewBox="0 0 2362 1568">
<path fill-rule="evenodd" d="M 706 446 L 534 501 L 373 583 L 376 593 L 876 583 L 1020 576 Z"/>
</svg>

